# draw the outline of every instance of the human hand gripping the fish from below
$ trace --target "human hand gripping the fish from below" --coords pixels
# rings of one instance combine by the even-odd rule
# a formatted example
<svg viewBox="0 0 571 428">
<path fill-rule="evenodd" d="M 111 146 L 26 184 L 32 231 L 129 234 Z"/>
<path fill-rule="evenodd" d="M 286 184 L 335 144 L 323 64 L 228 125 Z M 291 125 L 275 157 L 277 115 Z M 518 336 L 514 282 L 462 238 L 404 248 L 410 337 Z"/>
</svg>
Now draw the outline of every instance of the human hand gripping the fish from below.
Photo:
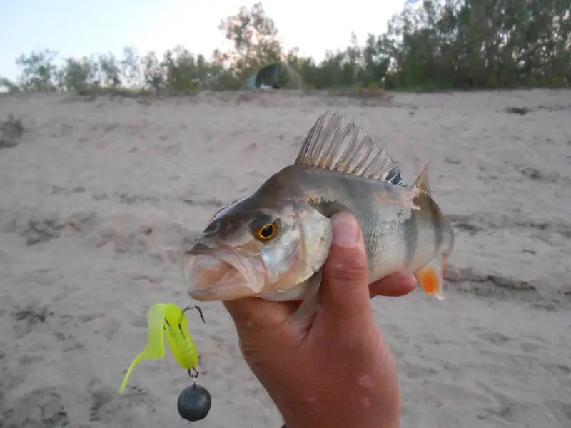
<svg viewBox="0 0 571 428">
<path fill-rule="evenodd" d="M 406 295 L 416 284 L 399 273 L 368 285 L 363 235 L 352 215 L 340 213 L 314 317 L 293 317 L 295 302 L 247 297 L 224 305 L 242 355 L 288 428 L 395 428 L 400 386 L 370 298 Z"/>
</svg>

